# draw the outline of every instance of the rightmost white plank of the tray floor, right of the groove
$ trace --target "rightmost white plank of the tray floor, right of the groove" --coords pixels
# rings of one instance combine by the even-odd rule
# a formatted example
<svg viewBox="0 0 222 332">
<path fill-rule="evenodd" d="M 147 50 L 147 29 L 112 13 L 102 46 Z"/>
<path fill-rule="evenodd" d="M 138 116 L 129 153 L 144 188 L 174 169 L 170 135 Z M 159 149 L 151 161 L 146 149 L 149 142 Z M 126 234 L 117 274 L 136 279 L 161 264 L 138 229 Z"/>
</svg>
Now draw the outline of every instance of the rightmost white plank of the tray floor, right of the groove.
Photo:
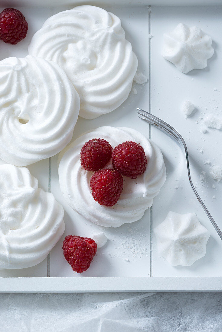
<svg viewBox="0 0 222 332">
<path fill-rule="evenodd" d="M 221 16 L 222 7 L 154 7 L 151 11 L 151 113 L 171 124 L 184 138 L 191 162 L 191 177 L 197 186 L 200 197 L 215 218 L 219 227 L 221 221 L 221 183 L 209 176 L 211 164 L 222 165 L 221 131 L 209 129 L 203 134 L 200 128 L 204 114 L 219 114 L 222 117 L 221 68 Z M 178 23 L 197 25 L 212 36 L 215 53 L 202 70 L 192 70 L 188 74 L 179 72 L 176 67 L 160 55 L 164 32 L 172 31 Z M 214 91 L 217 88 L 217 91 Z M 196 106 L 195 114 L 188 119 L 180 111 L 184 100 L 191 100 Z M 206 109 L 207 108 L 207 109 Z M 151 130 L 152 139 L 164 153 L 167 168 L 167 181 L 153 204 L 153 227 L 165 219 L 169 210 L 178 213 L 196 212 L 200 222 L 210 230 L 206 256 L 191 267 L 171 267 L 158 254 L 153 238 L 153 276 L 221 276 L 220 255 L 222 241 L 211 226 L 205 212 L 199 205 L 187 180 L 184 156 L 179 147 L 155 128 Z M 203 150 L 201 153 L 200 151 Z M 200 174 L 205 182 L 200 181 Z M 179 180 L 179 181 L 176 181 Z M 215 185 L 215 189 L 212 188 Z M 175 187 L 179 187 L 175 189 Z M 181 188 L 182 187 L 182 188 Z M 213 196 L 215 199 L 212 199 Z"/>
</svg>

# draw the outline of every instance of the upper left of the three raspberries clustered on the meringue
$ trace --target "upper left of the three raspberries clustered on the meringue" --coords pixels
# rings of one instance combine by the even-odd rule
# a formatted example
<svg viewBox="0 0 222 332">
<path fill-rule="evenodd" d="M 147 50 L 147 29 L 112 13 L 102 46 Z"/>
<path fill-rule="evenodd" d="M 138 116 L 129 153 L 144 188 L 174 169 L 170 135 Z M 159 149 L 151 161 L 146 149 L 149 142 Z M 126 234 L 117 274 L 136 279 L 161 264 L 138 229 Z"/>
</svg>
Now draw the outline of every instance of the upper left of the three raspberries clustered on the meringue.
<svg viewBox="0 0 222 332">
<path fill-rule="evenodd" d="M 105 139 L 86 142 L 80 152 L 81 166 L 87 171 L 98 171 L 111 160 L 112 147 Z"/>
</svg>

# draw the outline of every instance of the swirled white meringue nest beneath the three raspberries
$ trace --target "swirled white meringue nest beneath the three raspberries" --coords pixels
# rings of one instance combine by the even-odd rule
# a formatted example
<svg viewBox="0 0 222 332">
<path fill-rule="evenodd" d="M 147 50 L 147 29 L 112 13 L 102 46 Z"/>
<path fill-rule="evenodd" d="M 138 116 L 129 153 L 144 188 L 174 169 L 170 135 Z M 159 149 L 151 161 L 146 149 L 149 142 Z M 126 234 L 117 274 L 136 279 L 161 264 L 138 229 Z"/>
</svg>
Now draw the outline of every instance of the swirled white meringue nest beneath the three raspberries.
<svg viewBox="0 0 222 332">
<path fill-rule="evenodd" d="M 92 138 L 106 139 L 114 148 L 125 141 L 139 143 L 148 163 L 146 171 L 136 179 L 123 176 L 123 191 L 113 207 L 99 205 L 91 194 L 90 178 L 93 172 L 84 170 L 80 151 Z M 160 149 L 135 129 L 125 127 L 99 127 L 84 133 L 59 154 L 59 182 L 67 203 L 89 221 L 106 227 L 119 227 L 123 223 L 139 220 L 152 205 L 166 179 L 166 169 Z M 111 166 L 111 162 L 107 167 Z"/>
</svg>

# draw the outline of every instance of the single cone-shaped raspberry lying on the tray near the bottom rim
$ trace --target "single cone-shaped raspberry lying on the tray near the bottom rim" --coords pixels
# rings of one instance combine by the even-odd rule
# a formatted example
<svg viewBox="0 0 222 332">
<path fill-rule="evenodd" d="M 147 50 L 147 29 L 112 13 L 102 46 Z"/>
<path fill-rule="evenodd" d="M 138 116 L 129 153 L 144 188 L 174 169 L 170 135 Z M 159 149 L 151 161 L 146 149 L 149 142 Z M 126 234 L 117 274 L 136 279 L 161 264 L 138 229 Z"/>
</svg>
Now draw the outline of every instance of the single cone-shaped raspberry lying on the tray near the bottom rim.
<svg viewBox="0 0 222 332">
<path fill-rule="evenodd" d="M 88 237 L 68 235 L 63 241 L 63 255 L 77 273 L 89 269 L 96 252 L 96 242 Z"/>
</svg>

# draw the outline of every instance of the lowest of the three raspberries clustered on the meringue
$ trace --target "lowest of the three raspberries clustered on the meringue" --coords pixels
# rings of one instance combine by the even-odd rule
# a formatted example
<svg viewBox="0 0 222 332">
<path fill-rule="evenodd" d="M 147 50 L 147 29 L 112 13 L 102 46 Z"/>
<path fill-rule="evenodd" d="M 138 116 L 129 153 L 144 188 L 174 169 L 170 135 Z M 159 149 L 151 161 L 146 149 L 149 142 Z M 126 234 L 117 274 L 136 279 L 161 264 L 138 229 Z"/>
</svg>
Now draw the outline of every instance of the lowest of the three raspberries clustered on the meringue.
<svg viewBox="0 0 222 332">
<path fill-rule="evenodd" d="M 102 169 L 93 174 L 90 187 L 95 201 L 112 207 L 122 192 L 123 177 L 115 169 Z"/>
</svg>

